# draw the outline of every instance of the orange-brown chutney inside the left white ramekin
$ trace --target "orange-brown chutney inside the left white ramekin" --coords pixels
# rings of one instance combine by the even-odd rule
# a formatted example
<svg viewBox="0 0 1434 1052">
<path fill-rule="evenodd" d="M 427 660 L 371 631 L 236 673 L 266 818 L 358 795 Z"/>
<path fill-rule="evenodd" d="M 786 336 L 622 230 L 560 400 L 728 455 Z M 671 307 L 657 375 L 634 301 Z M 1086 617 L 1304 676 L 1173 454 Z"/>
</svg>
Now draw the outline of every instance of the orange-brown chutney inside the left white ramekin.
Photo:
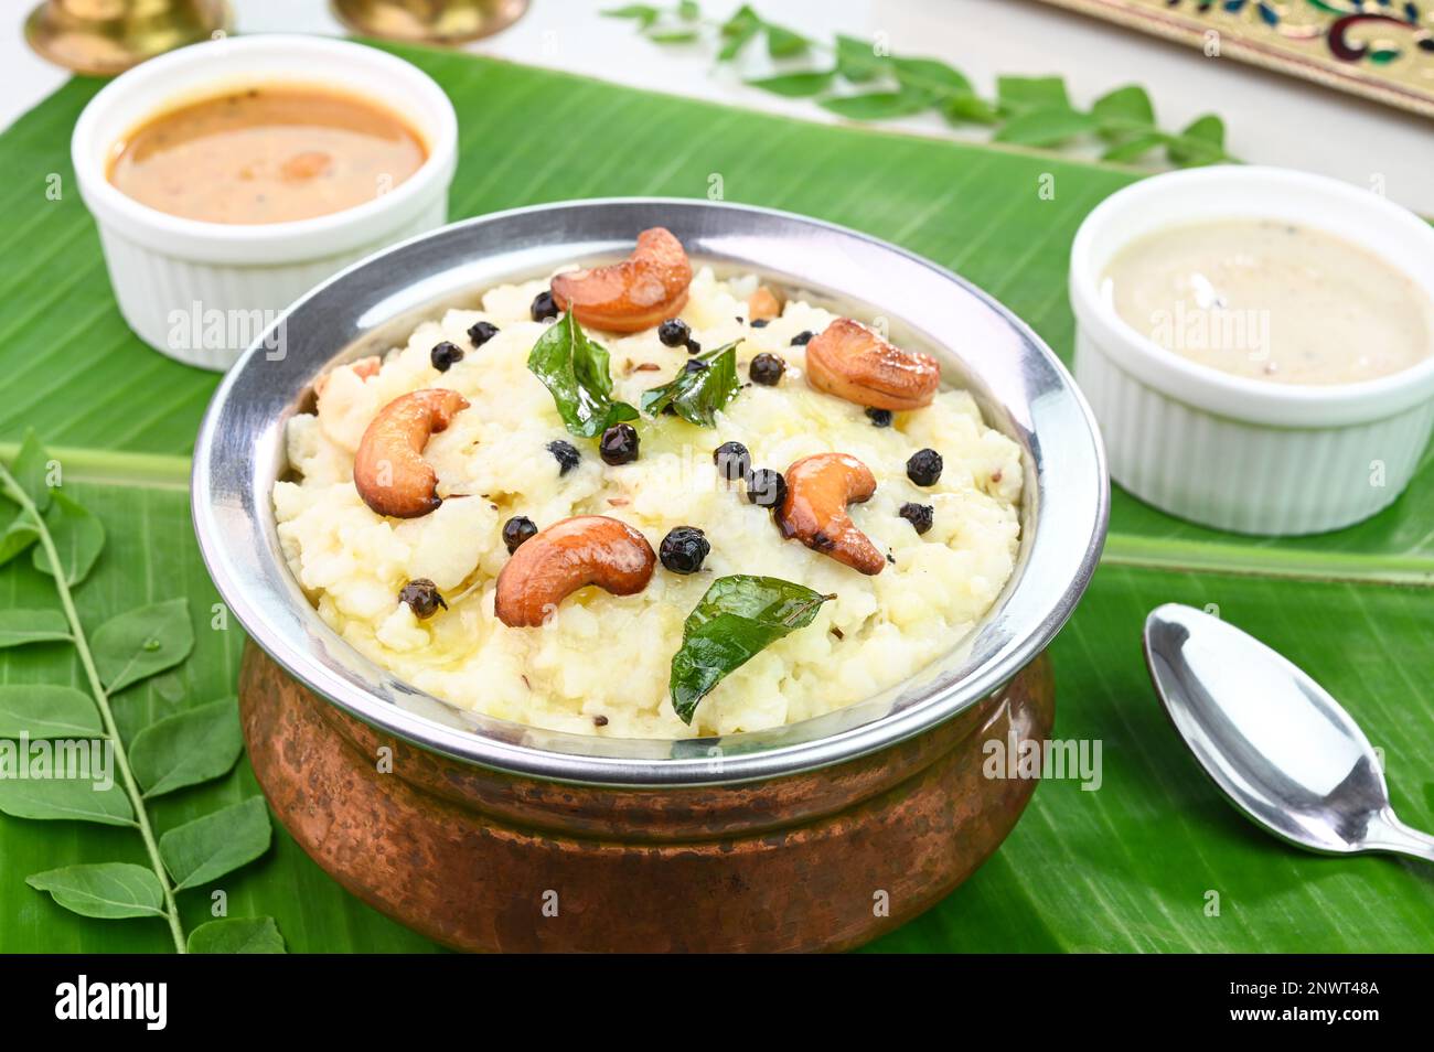
<svg viewBox="0 0 1434 1052">
<path fill-rule="evenodd" d="M 165 110 L 119 139 L 109 181 L 185 219 L 268 224 L 341 212 L 387 193 L 427 159 L 379 102 L 260 85 Z"/>
</svg>

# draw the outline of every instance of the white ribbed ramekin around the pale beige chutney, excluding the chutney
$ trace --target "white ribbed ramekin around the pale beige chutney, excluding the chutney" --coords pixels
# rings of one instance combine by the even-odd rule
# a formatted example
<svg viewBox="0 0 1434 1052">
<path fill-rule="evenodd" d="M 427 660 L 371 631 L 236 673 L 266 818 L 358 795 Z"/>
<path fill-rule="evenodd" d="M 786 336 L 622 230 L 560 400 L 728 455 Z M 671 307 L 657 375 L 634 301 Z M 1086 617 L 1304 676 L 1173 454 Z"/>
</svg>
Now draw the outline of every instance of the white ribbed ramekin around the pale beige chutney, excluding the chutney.
<svg viewBox="0 0 1434 1052">
<path fill-rule="evenodd" d="M 1107 198 L 1071 248 L 1076 380 L 1100 421 L 1111 477 L 1182 519 L 1242 533 L 1316 533 L 1390 505 L 1434 426 L 1434 357 L 1354 384 L 1232 376 L 1164 350 L 1101 294 L 1110 259 L 1154 231 L 1216 219 L 1318 228 L 1402 269 L 1434 302 L 1434 229 L 1382 196 L 1278 168 L 1144 179 Z"/>
</svg>

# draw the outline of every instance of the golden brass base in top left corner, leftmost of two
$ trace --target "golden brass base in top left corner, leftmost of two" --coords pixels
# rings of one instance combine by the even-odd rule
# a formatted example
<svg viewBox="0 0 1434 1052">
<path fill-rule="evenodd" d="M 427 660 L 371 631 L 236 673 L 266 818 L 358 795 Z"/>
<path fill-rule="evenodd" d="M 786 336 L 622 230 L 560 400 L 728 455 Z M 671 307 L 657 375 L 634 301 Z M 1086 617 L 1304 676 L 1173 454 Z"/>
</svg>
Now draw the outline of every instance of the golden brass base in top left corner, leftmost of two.
<svg viewBox="0 0 1434 1052">
<path fill-rule="evenodd" d="M 113 76 L 229 26 L 225 0 L 44 0 L 26 19 L 24 39 L 56 66 Z"/>
</svg>

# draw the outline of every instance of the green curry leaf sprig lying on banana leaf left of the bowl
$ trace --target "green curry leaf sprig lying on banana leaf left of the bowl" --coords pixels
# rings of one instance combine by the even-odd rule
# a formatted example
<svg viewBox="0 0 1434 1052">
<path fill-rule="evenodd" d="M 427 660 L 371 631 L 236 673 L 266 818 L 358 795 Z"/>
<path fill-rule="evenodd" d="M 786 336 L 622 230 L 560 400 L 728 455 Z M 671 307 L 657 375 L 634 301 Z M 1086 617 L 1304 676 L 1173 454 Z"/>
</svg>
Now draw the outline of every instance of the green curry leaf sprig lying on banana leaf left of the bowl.
<svg viewBox="0 0 1434 1052">
<path fill-rule="evenodd" d="M 148 866 L 82 863 L 34 873 L 26 883 L 80 916 L 162 919 L 179 953 L 282 953 L 271 917 L 224 917 L 189 933 L 181 923 L 179 891 L 208 884 L 268 850 L 268 808 L 251 797 L 156 834 L 151 800 L 218 778 L 238 761 L 244 748 L 238 707 L 234 698 L 199 705 L 149 724 L 125 742 L 110 699 L 189 656 L 189 606 L 185 599 L 151 603 L 86 631 L 73 590 L 99 559 L 105 527 L 52 486 L 52 463 L 33 431 L 9 469 L 0 463 L 0 493 L 19 507 L 0 533 L 0 563 L 30 550 L 34 568 L 53 578 L 60 606 L 0 612 L 0 648 L 69 642 L 87 689 L 0 687 L 0 755 L 10 761 L 0 770 L 0 811 L 132 828 Z M 118 781 L 95 780 L 89 760 L 83 764 L 89 777 L 60 770 L 60 757 L 89 757 L 86 745 L 112 755 Z"/>
</svg>

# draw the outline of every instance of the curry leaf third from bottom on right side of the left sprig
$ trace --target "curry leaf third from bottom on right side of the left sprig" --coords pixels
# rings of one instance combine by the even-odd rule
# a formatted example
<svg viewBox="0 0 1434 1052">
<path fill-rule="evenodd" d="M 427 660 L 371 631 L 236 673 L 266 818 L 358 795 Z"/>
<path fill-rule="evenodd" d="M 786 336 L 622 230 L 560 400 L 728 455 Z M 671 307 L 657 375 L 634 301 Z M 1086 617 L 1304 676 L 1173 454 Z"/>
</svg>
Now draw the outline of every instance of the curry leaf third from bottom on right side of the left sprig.
<svg viewBox="0 0 1434 1052">
<path fill-rule="evenodd" d="M 239 707 L 225 698 L 143 728 L 129 745 L 129 764 L 152 798 L 218 778 L 242 751 Z"/>
</svg>

